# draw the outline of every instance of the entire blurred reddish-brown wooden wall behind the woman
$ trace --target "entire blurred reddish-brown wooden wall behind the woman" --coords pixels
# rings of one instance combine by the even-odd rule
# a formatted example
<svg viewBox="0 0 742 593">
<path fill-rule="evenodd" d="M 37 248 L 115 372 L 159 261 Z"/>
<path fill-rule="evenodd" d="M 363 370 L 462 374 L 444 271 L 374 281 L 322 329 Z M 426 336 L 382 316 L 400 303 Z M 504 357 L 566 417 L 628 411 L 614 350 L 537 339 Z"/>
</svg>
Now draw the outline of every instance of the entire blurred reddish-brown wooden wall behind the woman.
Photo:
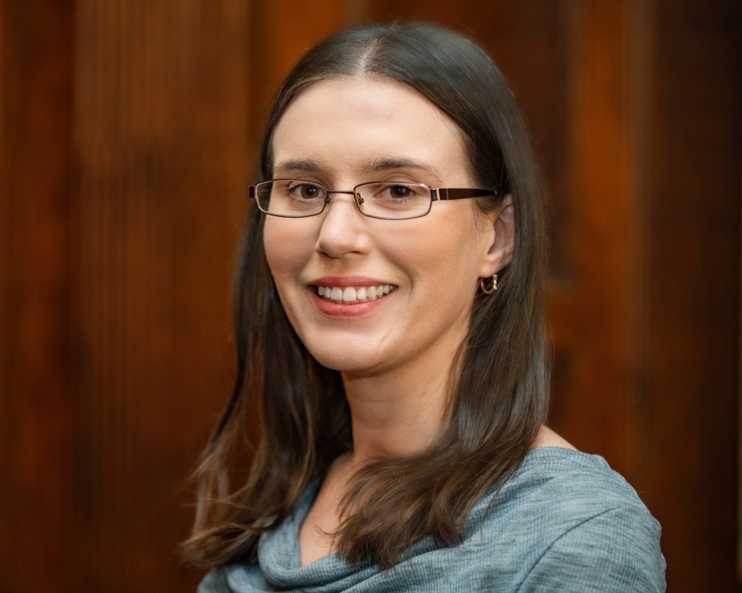
<svg viewBox="0 0 742 593">
<path fill-rule="evenodd" d="M 551 425 L 740 590 L 742 3 L 0 0 L 0 592 L 187 592 L 234 249 L 272 93 L 345 24 L 479 39 L 551 204 Z"/>
</svg>

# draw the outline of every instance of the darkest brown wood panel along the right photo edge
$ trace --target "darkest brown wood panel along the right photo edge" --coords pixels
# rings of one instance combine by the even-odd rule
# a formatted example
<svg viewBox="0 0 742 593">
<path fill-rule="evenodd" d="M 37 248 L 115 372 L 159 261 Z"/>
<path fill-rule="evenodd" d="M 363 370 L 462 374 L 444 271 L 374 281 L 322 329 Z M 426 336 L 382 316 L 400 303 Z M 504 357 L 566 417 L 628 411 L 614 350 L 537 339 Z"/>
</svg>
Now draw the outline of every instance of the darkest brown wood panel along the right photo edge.
<svg viewBox="0 0 742 593">
<path fill-rule="evenodd" d="M 742 3 L 656 11 L 643 489 L 669 591 L 735 591 Z"/>
</svg>

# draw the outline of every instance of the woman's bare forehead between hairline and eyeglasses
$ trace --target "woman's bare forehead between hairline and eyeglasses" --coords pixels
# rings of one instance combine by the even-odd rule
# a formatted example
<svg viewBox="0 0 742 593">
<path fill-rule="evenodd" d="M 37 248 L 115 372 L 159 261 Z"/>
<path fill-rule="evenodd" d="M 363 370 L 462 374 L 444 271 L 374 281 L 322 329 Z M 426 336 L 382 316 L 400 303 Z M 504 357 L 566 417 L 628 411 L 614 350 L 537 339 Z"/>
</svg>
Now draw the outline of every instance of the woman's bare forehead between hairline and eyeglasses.
<svg viewBox="0 0 742 593">
<path fill-rule="evenodd" d="M 387 79 L 332 79 L 298 96 L 272 139 L 278 174 L 312 162 L 329 173 L 417 162 L 442 179 L 468 176 L 459 127 L 415 90 Z"/>
</svg>

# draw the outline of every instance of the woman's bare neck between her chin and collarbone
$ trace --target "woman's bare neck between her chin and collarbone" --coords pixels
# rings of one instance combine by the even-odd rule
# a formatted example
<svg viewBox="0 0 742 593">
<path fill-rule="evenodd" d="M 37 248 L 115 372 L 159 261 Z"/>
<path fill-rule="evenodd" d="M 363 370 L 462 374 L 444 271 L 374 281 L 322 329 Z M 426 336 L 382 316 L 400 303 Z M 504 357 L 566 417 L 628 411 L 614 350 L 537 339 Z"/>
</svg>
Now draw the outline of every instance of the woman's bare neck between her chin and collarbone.
<svg viewBox="0 0 742 593">
<path fill-rule="evenodd" d="M 373 375 L 343 374 L 352 431 L 352 465 L 416 454 L 444 428 L 450 368 L 459 339 L 442 339 L 424 353 Z"/>
</svg>

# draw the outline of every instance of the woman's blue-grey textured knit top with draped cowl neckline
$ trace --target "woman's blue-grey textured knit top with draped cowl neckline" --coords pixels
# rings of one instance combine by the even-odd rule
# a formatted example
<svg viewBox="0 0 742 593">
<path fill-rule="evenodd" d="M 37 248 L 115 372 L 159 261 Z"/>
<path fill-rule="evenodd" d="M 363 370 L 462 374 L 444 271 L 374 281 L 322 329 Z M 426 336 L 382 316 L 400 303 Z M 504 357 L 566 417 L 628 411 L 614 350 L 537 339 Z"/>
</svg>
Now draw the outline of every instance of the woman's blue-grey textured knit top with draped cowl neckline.
<svg viewBox="0 0 742 593">
<path fill-rule="evenodd" d="M 300 566 L 298 532 L 318 486 L 263 534 L 257 563 L 211 571 L 198 593 L 665 591 L 660 524 L 599 455 L 533 449 L 486 513 L 491 494 L 477 503 L 464 542 L 436 548 L 424 540 L 384 572 L 349 566 L 338 554 Z"/>
</svg>

